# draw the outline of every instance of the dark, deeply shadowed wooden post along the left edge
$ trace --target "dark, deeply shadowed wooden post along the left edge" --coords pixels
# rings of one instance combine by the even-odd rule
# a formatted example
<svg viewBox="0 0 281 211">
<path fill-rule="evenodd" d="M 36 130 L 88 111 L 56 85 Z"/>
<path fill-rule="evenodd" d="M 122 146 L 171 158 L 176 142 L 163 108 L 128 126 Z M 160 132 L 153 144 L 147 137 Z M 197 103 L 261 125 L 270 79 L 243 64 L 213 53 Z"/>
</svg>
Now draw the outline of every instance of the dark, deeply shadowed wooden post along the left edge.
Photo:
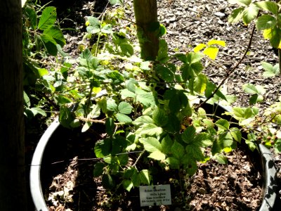
<svg viewBox="0 0 281 211">
<path fill-rule="evenodd" d="M 22 90 L 22 5 L 0 1 L 0 210 L 27 210 Z"/>
</svg>

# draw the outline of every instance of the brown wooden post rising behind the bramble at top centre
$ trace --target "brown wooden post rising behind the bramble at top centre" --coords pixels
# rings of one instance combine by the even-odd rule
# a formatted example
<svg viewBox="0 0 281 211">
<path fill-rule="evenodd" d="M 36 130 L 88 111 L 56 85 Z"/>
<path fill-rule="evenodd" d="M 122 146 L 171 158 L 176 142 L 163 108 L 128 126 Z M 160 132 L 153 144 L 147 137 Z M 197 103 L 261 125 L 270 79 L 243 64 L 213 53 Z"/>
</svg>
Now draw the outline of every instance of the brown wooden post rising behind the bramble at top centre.
<svg viewBox="0 0 281 211">
<path fill-rule="evenodd" d="M 155 60 L 159 49 L 157 0 L 133 0 L 141 58 Z"/>
</svg>

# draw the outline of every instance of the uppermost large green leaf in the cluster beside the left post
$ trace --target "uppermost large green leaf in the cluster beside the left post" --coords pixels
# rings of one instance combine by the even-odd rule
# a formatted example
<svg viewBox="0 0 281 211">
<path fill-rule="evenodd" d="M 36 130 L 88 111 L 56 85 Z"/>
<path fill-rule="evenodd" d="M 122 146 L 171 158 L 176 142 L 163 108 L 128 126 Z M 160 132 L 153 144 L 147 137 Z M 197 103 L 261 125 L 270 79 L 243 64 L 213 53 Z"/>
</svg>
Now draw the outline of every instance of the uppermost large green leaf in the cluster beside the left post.
<svg viewBox="0 0 281 211">
<path fill-rule="evenodd" d="M 41 14 L 41 18 L 38 23 L 39 30 L 47 30 L 55 24 L 57 18 L 56 8 L 54 6 L 48 6 Z"/>
</svg>

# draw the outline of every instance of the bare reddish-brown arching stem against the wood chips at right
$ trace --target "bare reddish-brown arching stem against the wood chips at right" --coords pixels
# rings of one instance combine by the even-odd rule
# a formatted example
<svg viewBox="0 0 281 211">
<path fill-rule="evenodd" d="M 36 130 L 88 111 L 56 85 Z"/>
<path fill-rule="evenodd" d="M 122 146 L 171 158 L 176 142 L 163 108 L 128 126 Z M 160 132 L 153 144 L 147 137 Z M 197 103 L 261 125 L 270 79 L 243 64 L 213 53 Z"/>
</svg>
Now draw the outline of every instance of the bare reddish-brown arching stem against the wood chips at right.
<svg viewBox="0 0 281 211">
<path fill-rule="evenodd" d="M 230 77 L 230 75 L 234 72 L 234 70 L 236 70 L 238 65 L 240 65 L 240 63 L 242 63 L 242 60 L 244 60 L 245 56 L 247 55 L 247 53 L 248 53 L 248 51 L 249 51 L 249 49 L 251 47 L 251 41 L 253 40 L 253 36 L 254 36 L 254 31 L 255 30 L 256 30 L 256 25 L 254 25 L 253 29 L 251 30 L 251 37 L 249 39 L 249 44 L 247 46 L 247 49 L 244 51 L 244 54 L 243 54 L 242 58 L 240 58 L 240 60 L 236 63 L 236 65 L 229 72 L 227 72 L 226 77 L 221 81 L 220 84 L 218 84 L 218 87 L 216 87 L 215 91 L 211 94 L 211 96 L 209 96 L 205 101 L 200 103 L 200 105 L 195 107 L 195 109 L 200 108 L 202 105 L 204 105 L 204 103 L 207 103 L 207 101 L 209 101 L 209 99 L 211 99 L 216 94 L 218 89 L 221 88 L 221 86 L 224 84 L 224 82 L 226 82 L 226 79 L 228 79 Z"/>
</svg>

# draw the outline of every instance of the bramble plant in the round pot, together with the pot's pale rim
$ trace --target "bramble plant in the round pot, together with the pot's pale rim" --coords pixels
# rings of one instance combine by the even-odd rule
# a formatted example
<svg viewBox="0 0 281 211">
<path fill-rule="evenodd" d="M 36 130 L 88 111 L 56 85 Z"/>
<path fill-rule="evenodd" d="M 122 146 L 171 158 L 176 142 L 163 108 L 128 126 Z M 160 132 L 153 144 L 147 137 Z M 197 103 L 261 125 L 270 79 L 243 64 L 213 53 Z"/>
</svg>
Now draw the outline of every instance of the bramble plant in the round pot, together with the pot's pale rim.
<svg viewBox="0 0 281 211">
<path fill-rule="evenodd" d="M 135 5 L 138 3 L 135 1 Z M 183 189 L 185 178 L 197 172 L 198 162 L 214 159 L 226 163 L 226 153 L 244 141 L 252 151 L 259 146 L 263 156 L 266 191 L 261 210 L 270 210 L 276 196 L 275 168 L 268 158 L 269 152 L 259 143 L 268 146 L 279 143 L 280 134 L 275 134 L 269 123 L 280 124 L 280 103 L 263 117 L 258 117 L 256 108 L 233 108 L 226 110 L 228 116 L 223 116 L 218 115 L 219 108 L 214 106 L 216 109 L 207 113 L 206 103 L 229 101 L 220 89 L 226 79 L 217 86 L 202 72 L 202 59 L 205 56 L 215 59 L 218 49 L 225 46 L 224 41 L 211 40 L 197 45 L 193 52 L 169 56 L 166 41 L 158 39 L 164 34 L 164 27 L 156 22 L 150 25 L 153 32 L 150 36 L 157 37 L 157 56 L 153 58 L 155 55 L 141 51 L 145 59 L 152 59 L 142 60 L 133 56 L 136 48 L 126 38 L 129 29 L 114 32 L 114 21 L 103 23 L 103 18 L 101 21 L 87 18 L 85 37 L 96 34 L 98 42 L 91 50 L 81 47 L 77 67 L 72 65 L 69 56 L 61 53 L 63 65 L 51 73 L 55 79 L 40 78 L 60 106 L 60 117 L 42 136 L 34 153 L 30 183 L 32 191 L 40 194 L 32 192 L 32 195 L 43 195 L 39 184 L 41 153 L 55 129 L 60 124 L 67 128 L 82 125 L 81 132 L 86 132 L 102 124 L 105 136 L 100 136 L 94 147 L 100 161 L 94 166 L 93 175 L 102 179 L 105 188 L 123 187 L 130 192 L 132 188 L 157 184 L 159 181 L 153 173 L 156 169 L 177 172 L 178 187 Z M 148 37 L 141 34 L 138 21 L 136 17 L 143 50 L 149 46 L 145 43 Z M 110 35 L 112 42 L 107 42 L 102 53 L 98 53 L 100 37 L 105 35 Z M 179 65 L 171 58 L 178 60 Z M 118 65 L 120 60 L 126 63 L 123 69 Z M 72 87 L 72 84 L 75 85 Z M 202 96 L 206 98 L 202 100 Z M 268 139 L 273 134 L 276 137 Z M 209 153 L 205 151 L 207 148 Z M 43 198 L 34 199 L 34 203 L 37 202 L 37 209 L 46 209 Z"/>
</svg>

